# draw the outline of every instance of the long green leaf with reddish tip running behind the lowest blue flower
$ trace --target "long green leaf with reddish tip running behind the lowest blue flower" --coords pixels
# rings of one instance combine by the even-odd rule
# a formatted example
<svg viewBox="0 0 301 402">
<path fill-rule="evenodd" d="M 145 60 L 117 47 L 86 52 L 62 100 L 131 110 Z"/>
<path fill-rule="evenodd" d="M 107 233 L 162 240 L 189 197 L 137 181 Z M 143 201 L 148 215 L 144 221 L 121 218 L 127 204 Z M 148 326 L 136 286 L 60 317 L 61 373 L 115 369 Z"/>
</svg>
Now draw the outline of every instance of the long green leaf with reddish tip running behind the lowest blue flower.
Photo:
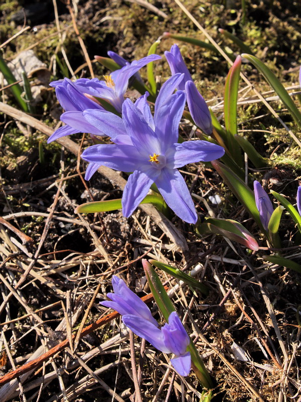
<svg viewBox="0 0 301 402">
<path fill-rule="evenodd" d="M 146 260 L 142 260 L 144 272 L 146 275 L 147 283 L 149 285 L 150 291 L 153 293 L 155 302 L 161 311 L 166 322 L 168 322 L 169 316 L 173 311 L 175 311 L 174 305 L 171 302 L 159 276 L 157 275 L 155 269 Z M 205 388 L 213 388 L 213 383 L 211 377 L 201 359 L 195 344 L 190 341 L 190 344 L 186 349 L 191 354 L 192 368 L 199 378 L 201 384 Z"/>
</svg>

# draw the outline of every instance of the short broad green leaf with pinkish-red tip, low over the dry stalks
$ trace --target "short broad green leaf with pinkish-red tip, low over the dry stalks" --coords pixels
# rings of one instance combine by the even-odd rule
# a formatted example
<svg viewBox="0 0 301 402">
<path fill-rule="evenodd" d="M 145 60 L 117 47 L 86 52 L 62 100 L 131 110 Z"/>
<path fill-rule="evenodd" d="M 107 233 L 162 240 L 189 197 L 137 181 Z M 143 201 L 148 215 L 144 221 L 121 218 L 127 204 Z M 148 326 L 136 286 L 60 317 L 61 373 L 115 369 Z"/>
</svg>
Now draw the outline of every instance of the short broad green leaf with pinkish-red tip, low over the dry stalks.
<svg viewBox="0 0 301 402">
<path fill-rule="evenodd" d="M 196 230 L 202 235 L 208 233 L 221 235 L 251 250 L 258 250 L 258 243 L 251 233 L 232 219 L 205 218 L 205 222 L 198 225 Z"/>
</svg>

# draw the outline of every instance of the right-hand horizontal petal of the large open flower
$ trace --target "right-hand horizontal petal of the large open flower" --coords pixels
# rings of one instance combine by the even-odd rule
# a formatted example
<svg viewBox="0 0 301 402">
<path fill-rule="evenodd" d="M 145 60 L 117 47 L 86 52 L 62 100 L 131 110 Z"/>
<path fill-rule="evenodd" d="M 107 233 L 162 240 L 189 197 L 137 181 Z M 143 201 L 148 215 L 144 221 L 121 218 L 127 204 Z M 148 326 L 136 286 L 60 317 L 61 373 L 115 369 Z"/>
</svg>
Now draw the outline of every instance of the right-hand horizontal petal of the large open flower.
<svg viewBox="0 0 301 402">
<path fill-rule="evenodd" d="M 212 144 L 209 141 L 186 141 L 175 144 L 166 153 L 167 163 L 170 168 L 178 168 L 194 162 L 209 162 L 221 158 L 225 153 L 223 147 Z M 173 162 L 172 162 L 173 159 Z"/>
</svg>

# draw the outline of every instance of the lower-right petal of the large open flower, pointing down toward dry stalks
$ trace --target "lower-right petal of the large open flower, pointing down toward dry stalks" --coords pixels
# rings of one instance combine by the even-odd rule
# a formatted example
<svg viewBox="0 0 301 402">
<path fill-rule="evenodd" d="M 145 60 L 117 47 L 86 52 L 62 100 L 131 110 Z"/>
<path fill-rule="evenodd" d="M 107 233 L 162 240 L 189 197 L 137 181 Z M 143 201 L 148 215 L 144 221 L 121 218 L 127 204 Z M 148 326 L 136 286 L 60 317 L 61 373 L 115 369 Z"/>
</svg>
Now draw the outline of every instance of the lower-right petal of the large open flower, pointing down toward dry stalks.
<svg viewBox="0 0 301 402">
<path fill-rule="evenodd" d="M 167 205 L 188 223 L 196 223 L 198 216 L 184 178 L 177 169 L 164 168 L 155 180 Z"/>
</svg>

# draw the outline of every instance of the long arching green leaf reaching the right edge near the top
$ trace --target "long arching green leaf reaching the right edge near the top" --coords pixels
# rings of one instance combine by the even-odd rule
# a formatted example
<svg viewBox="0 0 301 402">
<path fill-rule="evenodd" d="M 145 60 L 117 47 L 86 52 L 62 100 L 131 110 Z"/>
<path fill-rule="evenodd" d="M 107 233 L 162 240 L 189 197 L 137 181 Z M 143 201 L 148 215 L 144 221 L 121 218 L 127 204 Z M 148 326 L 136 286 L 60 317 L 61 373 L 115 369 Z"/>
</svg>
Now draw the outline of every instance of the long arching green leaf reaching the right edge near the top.
<svg viewBox="0 0 301 402">
<path fill-rule="evenodd" d="M 288 109 L 298 127 L 301 128 L 301 113 L 275 74 L 257 57 L 245 53 L 242 54 L 242 57 L 249 60 L 257 70 L 261 72 L 266 81 L 282 100 L 282 103 Z"/>
</svg>

